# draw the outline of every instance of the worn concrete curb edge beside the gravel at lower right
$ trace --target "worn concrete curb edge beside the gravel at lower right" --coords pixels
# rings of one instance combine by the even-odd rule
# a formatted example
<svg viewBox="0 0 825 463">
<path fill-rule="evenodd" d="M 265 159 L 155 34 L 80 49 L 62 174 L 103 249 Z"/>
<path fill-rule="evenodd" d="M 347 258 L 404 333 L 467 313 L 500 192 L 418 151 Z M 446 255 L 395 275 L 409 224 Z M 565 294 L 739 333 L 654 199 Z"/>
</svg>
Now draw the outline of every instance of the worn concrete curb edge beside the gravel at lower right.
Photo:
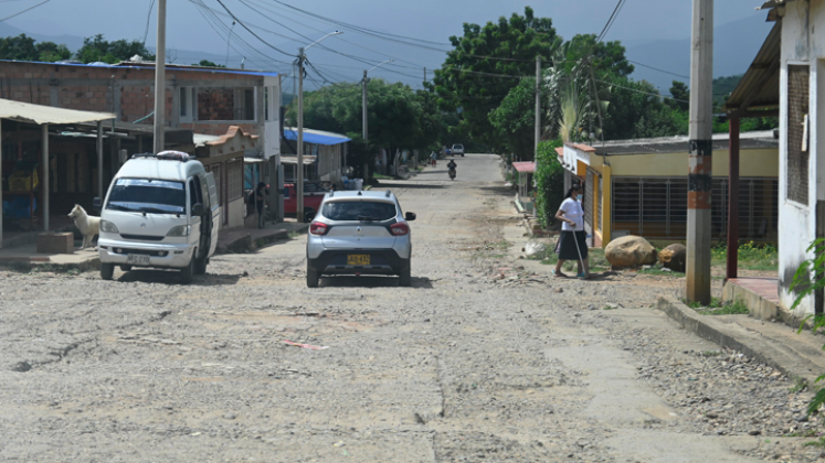
<svg viewBox="0 0 825 463">
<path fill-rule="evenodd" d="M 699 337 L 719 344 L 722 347 L 739 351 L 759 363 L 782 372 L 790 378 L 798 376 L 807 379 L 808 384 L 813 385 L 819 375 L 814 370 L 814 368 L 817 368 L 816 365 L 802 357 L 794 358 L 792 354 L 772 348 L 769 343 L 760 338 L 758 333 L 743 332 L 740 335 L 733 335 L 729 333 L 733 330 L 726 330 L 724 323 L 709 319 L 708 316 L 710 315 L 696 313 L 696 311 L 673 297 L 659 295 L 656 308 L 665 312 L 668 317 L 678 323 L 683 329 Z"/>
</svg>

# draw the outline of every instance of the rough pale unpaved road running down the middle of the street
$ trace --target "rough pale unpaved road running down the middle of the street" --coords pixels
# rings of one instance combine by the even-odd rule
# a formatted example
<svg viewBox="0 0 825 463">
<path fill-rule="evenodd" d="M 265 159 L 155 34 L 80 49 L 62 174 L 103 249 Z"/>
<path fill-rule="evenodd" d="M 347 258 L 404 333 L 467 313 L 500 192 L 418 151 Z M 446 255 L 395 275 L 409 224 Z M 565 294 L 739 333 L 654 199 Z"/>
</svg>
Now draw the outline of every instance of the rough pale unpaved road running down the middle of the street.
<svg viewBox="0 0 825 463">
<path fill-rule="evenodd" d="M 304 239 L 159 271 L 0 273 L 0 460 L 819 461 L 793 383 L 648 309 L 673 284 L 551 280 L 496 158 L 390 185 L 413 288 L 309 290 Z M 614 305 L 607 305 L 614 304 Z M 604 310 L 613 309 L 615 310 Z M 311 351 L 289 340 L 317 346 Z"/>
</svg>

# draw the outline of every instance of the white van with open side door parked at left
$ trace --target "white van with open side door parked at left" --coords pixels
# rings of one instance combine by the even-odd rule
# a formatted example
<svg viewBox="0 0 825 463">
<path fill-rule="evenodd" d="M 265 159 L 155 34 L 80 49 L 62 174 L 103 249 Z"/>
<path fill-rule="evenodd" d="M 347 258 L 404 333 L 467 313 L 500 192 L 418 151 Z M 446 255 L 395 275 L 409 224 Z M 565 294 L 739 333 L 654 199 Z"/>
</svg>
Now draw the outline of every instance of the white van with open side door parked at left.
<svg viewBox="0 0 825 463">
<path fill-rule="evenodd" d="M 193 157 L 179 151 L 133 155 L 102 206 L 97 248 L 104 280 L 112 279 L 115 266 L 180 269 L 183 283 L 207 272 L 221 209 L 214 176 Z"/>
</svg>

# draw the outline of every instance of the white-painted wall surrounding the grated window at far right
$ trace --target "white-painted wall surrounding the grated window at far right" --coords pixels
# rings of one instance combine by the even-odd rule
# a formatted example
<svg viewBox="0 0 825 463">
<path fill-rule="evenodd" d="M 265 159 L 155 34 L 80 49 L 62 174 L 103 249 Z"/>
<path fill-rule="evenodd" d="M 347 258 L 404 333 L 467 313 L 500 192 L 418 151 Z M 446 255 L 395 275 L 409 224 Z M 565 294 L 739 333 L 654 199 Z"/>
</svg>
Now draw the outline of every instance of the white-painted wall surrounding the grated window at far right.
<svg viewBox="0 0 825 463">
<path fill-rule="evenodd" d="M 816 238 L 816 202 L 825 197 L 822 189 L 817 189 L 822 181 L 817 179 L 819 146 L 817 130 L 821 123 L 821 111 L 817 100 L 819 90 L 817 83 L 822 79 L 821 64 L 817 58 L 825 57 L 825 30 L 814 28 L 825 24 L 825 1 L 795 1 L 785 7 L 782 19 L 782 57 L 780 74 L 780 239 L 779 239 L 779 279 L 780 302 L 790 308 L 796 294 L 791 291 L 793 276 L 805 259 L 812 257 L 805 250 Z M 808 201 L 800 204 L 787 197 L 789 183 L 794 179 L 787 177 L 787 66 L 807 64 L 811 67 L 810 83 L 810 126 L 808 126 Z M 818 76 L 818 77 L 817 77 Z M 819 192 L 817 194 L 817 191 Z M 814 313 L 814 298 L 805 298 L 795 315 Z"/>
</svg>

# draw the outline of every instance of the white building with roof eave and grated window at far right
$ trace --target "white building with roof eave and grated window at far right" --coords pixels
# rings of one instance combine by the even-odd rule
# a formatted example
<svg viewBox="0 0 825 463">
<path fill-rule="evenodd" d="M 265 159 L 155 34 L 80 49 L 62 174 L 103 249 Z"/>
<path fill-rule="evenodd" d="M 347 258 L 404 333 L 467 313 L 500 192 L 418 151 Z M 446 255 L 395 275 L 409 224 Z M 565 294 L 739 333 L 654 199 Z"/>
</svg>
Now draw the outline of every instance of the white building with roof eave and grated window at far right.
<svg viewBox="0 0 825 463">
<path fill-rule="evenodd" d="M 818 140 L 825 134 L 825 0 L 771 0 L 762 8 L 781 28 L 779 63 L 766 64 L 779 71 L 779 298 L 791 308 L 794 274 L 813 257 L 808 246 L 825 236 L 825 139 Z M 805 298 L 794 315 L 822 313 L 822 301 Z"/>
</svg>

